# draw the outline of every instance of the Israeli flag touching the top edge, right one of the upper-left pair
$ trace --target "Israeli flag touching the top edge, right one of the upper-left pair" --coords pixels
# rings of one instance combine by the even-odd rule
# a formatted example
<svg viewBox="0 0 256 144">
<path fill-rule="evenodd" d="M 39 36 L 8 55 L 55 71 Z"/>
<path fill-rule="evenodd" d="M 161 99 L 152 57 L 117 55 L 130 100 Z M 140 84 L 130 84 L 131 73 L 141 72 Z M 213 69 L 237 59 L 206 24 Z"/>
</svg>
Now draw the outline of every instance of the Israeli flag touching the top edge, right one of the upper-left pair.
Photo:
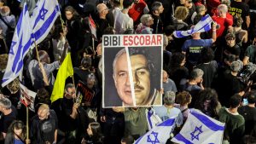
<svg viewBox="0 0 256 144">
<path fill-rule="evenodd" d="M 61 14 L 57 0 L 39 0 L 32 12 L 32 32 L 36 43 L 41 43 L 47 37 L 55 20 Z M 33 47 L 33 45 L 32 45 Z"/>
</svg>

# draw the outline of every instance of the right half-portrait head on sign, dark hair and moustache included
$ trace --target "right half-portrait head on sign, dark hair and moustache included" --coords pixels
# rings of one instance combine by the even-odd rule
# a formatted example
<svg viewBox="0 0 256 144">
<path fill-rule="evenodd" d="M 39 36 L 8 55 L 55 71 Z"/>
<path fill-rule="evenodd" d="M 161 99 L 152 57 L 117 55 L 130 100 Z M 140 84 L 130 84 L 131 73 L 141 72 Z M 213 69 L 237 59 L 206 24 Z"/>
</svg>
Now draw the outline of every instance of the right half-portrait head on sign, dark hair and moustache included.
<svg viewBox="0 0 256 144">
<path fill-rule="evenodd" d="M 136 104 L 138 106 L 148 105 L 152 99 L 156 84 L 151 79 L 155 77 L 154 61 L 148 49 L 129 49 L 131 60 L 131 72 L 134 84 Z M 152 88 L 152 89 L 151 89 Z"/>
</svg>

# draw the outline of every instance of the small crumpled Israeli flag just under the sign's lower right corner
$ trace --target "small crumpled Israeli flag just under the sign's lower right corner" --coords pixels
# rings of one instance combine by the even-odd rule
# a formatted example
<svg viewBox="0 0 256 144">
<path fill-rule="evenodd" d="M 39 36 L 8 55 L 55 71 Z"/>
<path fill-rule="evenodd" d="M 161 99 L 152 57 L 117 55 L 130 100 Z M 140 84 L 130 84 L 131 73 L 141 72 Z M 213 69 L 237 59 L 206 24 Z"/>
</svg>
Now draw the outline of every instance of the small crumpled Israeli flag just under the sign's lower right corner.
<svg viewBox="0 0 256 144">
<path fill-rule="evenodd" d="M 157 124 L 162 123 L 161 118 L 155 114 L 154 109 L 151 108 L 150 110 L 146 109 L 146 117 L 148 122 L 148 130 L 154 129 Z"/>
</svg>

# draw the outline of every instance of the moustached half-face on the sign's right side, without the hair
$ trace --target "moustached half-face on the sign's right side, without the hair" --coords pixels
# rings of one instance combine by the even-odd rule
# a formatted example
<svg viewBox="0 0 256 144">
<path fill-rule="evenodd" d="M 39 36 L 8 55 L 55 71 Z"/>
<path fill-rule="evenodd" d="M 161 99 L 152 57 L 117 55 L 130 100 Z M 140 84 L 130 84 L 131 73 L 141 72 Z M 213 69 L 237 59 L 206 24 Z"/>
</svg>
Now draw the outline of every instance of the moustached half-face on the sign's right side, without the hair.
<svg viewBox="0 0 256 144">
<path fill-rule="evenodd" d="M 144 55 L 131 55 L 131 71 L 134 83 L 136 105 L 148 105 L 150 93 L 150 72 L 148 70 L 148 60 Z"/>
</svg>

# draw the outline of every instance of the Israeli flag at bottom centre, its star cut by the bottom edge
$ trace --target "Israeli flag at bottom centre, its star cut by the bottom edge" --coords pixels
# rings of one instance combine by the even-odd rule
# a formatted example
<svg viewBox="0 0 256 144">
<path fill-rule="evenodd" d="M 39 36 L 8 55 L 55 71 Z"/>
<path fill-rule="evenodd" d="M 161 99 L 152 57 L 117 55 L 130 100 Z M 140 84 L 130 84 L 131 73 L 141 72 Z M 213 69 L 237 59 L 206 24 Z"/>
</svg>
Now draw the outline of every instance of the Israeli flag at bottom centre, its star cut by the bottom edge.
<svg viewBox="0 0 256 144">
<path fill-rule="evenodd" d="M 145 135 L 137 139 L 134 144 L 166 143 L 172 133 L 172 127 L 175 125 L 175 118 L 169 118 L 158 124 L 154 129 L 149 130 Z"/>
</svg>

